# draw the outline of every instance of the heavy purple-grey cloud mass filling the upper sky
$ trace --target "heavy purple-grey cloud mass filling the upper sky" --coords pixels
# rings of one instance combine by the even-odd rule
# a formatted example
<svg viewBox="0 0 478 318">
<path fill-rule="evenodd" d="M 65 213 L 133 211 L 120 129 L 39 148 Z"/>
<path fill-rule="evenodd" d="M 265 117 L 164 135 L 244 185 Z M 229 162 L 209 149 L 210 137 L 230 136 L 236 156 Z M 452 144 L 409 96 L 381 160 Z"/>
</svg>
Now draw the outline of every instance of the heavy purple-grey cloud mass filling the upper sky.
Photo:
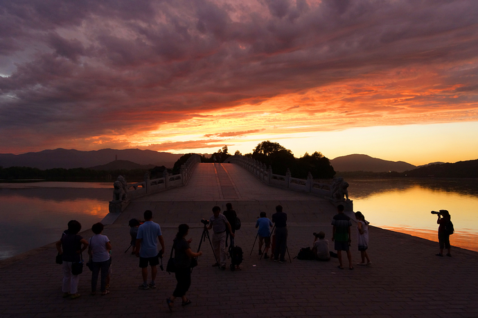
<svg viewBox="0 0 478 318">
<path fill-rule="evenodd" d="M 0 142 L 148 131 L 400 68 L 436 69 L 450 94 L 475 92 L 477 14 L 472 0 L 3 0 Z M 366 112 L 380 96 L 347 102 Z M 477 95 L 453 101 L 471 107 Z"/>
</svg>

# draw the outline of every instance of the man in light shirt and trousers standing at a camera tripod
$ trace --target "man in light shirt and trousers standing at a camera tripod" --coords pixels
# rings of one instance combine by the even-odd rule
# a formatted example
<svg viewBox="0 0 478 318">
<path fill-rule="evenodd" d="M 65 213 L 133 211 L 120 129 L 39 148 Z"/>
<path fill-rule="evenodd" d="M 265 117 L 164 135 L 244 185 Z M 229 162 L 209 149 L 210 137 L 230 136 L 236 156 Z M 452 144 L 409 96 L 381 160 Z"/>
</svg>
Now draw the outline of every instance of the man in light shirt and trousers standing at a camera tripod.
<svg viewBox="0 0 478 318">
<path fill-rule="evenodd" d="M 234 233 L 231 229 L 231 224 L 227 221 L 224 214 L 220 214 L 221 208 L 217 205 L 213 207 L 213 216 L 209 218 L 208 230 L 213 229 L 213 247 L 216 256 L 219 256 L 220 263 L 215 263 L 214 266 L 221 266 L 222 270 L 226 269 L 226 230 L 229 230 L 231 237 L 234 238 Z M 206 226 L 206 225 L 204 225 Z"/>
</svg>

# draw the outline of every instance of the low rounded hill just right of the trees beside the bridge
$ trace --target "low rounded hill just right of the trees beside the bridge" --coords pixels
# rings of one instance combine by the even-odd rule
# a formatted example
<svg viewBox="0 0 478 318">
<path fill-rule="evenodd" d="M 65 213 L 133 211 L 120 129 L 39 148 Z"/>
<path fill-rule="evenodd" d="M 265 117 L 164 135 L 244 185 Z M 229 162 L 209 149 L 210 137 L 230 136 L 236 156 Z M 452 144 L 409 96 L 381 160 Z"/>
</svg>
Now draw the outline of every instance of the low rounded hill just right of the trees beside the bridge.
<svg viewBox="0 0 478 318">
<path fill-rule="evenodd" d="M 382 160 L 360 154 L 337 157 L 330 160 L 330 165 L 334 167 L 335 171 L 402 172 L 416 168 L 407 162 Z"/>
</svg>

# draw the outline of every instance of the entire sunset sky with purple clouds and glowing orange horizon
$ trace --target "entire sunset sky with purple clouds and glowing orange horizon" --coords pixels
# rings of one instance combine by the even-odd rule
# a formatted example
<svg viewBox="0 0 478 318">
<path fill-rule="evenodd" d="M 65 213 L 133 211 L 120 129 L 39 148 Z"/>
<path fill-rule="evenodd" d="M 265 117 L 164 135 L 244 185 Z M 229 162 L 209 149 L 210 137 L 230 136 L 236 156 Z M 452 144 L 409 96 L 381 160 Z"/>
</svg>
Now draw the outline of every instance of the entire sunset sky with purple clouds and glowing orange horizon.
<svg viewBox="0 0 478 318">
<path fill-rule="evenodd" d="M 0 153 L 478 158 L 478 1 L 0 0 Z"/>
</svg>

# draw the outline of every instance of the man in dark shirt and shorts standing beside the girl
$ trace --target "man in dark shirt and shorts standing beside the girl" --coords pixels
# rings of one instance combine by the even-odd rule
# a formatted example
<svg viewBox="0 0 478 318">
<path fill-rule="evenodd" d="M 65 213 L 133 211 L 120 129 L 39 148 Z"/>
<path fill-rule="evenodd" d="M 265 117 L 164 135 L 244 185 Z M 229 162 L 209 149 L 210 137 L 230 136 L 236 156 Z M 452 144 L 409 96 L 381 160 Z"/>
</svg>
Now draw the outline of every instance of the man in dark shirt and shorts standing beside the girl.
<svg viewBox="0 0 478 318">
<path fill-rule="evenodd" d="M 339 266 L 341 270 L 344 269 L 342 265 L 342 251 L 347 253 L 348 269 L 353 270 L 352 254 L 349 249 L 351 239 L 351 218 L 344 214 L 344 205 L 337 206 L 337 214 L 332 220 L 332 241 L 335 242 L 335 250 L 337 250 L 337 259 L 339 259 Z"/>
</svg>

